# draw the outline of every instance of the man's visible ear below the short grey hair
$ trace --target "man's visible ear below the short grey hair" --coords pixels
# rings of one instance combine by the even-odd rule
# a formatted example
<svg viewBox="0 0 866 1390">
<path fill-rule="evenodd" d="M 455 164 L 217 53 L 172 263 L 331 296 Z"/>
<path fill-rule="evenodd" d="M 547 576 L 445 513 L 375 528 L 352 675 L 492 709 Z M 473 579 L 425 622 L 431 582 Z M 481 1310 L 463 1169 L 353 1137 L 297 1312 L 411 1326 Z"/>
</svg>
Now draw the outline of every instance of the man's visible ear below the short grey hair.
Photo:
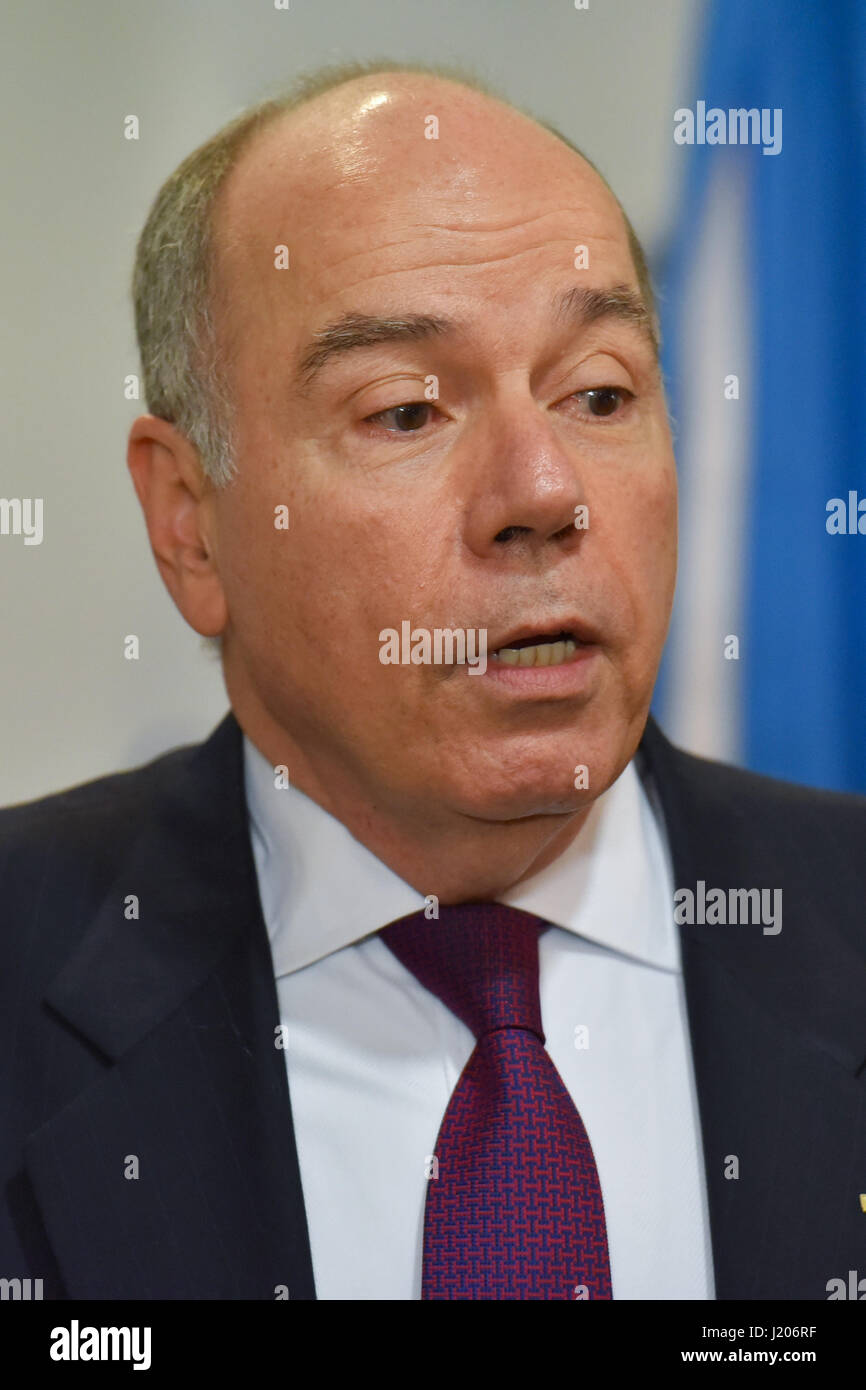
<svg viewBox="0 0 866 1390">
<path fill-rule="evenodd" d="M 197 450 L 167 420 L 139 416 L 126 467 L 165 588 L 196 632 L 217 637 L 228 610 L 215 563 L 214 486 Z"/>
</svg>

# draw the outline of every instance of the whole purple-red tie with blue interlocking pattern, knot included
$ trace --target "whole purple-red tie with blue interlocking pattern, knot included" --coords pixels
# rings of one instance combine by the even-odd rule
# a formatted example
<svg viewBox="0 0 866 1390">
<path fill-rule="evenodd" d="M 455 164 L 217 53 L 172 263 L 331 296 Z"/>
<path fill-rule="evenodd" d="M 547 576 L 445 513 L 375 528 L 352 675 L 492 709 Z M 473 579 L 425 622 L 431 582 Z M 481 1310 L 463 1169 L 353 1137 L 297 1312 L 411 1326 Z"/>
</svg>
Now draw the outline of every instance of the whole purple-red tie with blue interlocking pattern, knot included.
<svg viewBox="0 0 866 1390">
<path fill-rule="evenodd" d="M 545 1051 L 538 938 L 498 902 L 441 908 L 381 937 L 475 1034 L 436 1138 L 421 1298 L 612 1298 L 592 1148 Z"/>
</svg>

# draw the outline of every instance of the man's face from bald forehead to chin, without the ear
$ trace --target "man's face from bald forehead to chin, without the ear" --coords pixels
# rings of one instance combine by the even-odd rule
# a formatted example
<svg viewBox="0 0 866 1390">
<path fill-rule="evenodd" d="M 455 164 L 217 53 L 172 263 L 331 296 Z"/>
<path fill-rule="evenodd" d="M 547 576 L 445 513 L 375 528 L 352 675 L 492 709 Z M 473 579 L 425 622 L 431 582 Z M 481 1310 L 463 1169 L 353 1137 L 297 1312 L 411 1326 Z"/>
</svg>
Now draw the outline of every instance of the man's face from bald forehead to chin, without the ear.
<svg viewBox="0 0 866 1390">
<path fill-rule="evenodd" d="M 676 569 L 649 336 L 562 306 L 638 293 L 614 199 L 516 113 L 389 76 L 271 128 L 227 186 L 220 236 L 239 466 L 215 498 L 229 692 L 325 787 L 342 774 L 378 806 L 505 820 L 585 805 L 639 739 Z M 348 314 L 448 325 L 302 374 Z M 484 630 L 485 673 L 382 663 L 379 634 L 405 621 Z M 575 651 L 552 666 L 493 655 L 563 632 Z"/>
</svg>

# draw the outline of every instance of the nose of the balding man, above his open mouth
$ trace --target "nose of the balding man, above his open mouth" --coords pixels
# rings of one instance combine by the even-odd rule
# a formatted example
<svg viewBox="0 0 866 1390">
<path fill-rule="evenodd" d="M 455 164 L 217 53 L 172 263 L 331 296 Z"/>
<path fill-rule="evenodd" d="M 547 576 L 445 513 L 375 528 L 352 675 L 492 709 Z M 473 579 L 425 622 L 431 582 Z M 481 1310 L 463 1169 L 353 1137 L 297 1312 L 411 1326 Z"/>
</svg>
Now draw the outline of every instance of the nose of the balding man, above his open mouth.
<svg viewBox="0 0 866 1390">
<path fill-rule="evenodd" d="M 588 524 L 585 460 L 528 392 L 487 411 L 467 450 L 460 471 L 470 549 L 523 555 L 580 543 Z"/>
</svg>

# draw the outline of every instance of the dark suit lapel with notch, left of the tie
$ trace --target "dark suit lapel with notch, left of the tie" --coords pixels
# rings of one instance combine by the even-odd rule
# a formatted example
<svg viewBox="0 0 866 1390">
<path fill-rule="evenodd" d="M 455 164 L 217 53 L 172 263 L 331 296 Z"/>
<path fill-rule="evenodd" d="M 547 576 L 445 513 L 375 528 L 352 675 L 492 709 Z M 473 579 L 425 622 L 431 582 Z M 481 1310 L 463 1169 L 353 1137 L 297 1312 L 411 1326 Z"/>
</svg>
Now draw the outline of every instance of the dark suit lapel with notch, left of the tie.
<svg viewBox="0 0 866 1390">
<path fill-rule="evenodd" d="M 314 1298 L 234 717 L 177 759 L 49 991 L 101 1065 L 29 1182 L 71 1297 Z"/>
</svg>

